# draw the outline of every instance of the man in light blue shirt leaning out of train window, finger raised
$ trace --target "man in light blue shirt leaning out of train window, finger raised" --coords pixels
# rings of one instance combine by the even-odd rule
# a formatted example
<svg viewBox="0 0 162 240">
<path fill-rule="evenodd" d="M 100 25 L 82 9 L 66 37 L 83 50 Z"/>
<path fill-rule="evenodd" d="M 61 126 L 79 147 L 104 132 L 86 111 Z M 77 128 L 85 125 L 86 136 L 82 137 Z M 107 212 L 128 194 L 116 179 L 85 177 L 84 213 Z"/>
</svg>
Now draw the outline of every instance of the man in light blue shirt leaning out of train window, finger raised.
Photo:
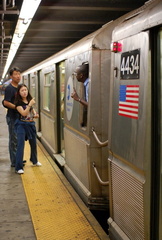
<svg viewBox="0 0 162 240">
<path fill-rule="evenodd" d="M 79 97 L 76 89 L 74 88 L 73 93 L 71 94 L 71 97 L 81 103 L 83 106 L 88 107 L 88 94 L 89 94 L 89 64 L 83 63 L 82 65 L 79 65 L 75 70 L 75 76 L 78 82 L 82 82 L 84 85 L 84 97 Z"/>
</svg>

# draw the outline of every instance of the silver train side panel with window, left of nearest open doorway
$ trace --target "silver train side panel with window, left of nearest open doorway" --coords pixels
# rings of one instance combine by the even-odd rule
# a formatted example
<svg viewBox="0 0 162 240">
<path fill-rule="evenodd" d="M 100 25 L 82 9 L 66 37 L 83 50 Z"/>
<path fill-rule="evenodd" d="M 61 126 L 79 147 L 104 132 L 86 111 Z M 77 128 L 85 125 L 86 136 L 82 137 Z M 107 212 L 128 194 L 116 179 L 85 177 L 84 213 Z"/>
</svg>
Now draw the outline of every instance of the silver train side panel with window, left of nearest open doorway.
<svg viewBox="0 0 162 240">
<path fill-rule="evenodd" d="M 40 71 L 41 141 L 52 153 L 57 152 L 56 73 L 55 65 Z"/>
</svg>

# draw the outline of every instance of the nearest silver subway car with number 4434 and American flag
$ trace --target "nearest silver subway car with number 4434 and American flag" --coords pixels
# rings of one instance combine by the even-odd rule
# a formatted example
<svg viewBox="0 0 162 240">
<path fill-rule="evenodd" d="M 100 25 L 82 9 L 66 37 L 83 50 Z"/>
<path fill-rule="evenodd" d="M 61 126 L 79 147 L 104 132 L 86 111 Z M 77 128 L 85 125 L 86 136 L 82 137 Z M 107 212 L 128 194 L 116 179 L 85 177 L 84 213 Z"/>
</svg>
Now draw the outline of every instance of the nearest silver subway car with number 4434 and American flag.
<svg viewBox="0 0 162 240">
<path fill-rule="evenodd" d="M 149 1 L 112 38 L 110 239 L 162 239 L 162 1 Z"/>
</svg>

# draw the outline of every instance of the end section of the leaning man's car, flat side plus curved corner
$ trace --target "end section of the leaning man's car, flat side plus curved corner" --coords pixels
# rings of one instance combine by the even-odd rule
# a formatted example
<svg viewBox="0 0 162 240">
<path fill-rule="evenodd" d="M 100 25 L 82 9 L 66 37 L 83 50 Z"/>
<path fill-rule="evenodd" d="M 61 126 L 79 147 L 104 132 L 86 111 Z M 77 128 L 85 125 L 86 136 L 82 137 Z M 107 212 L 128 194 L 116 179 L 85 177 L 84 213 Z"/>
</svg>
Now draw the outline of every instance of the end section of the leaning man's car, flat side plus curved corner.
<svg viewBox="0 0 162 240">
<path fill-rule="evenodd" d="M 107 151 L 106 147 L 99 146 L 94 139 L 92 128 L 95 129 L 101 141 L 107 140 L 106 112 L 103 111 L 104 104 L 108 98 L 108 50 L 92 50 L 82 55 L 69 59 L 67 69 L 69 71 L 66 88 L 66 120 L 65 120 L 65 175 L 73 186 L 80 192 L 82 198 L 90 207 L 108 206 L 108 185 L 102 186 L 99 183 L 93 164 L 98 169 L 103 181 L 108 180 Z M 79 96 L 83 97 L 83 86 L 73 78 L 72 73 L 82 62 L 89 63 L 90 90 L 88 101 L 87 125 L 82 125 L 83 107 L 78 102 L 69 98 L 69 88 L 77 89 Z M 101 66 L 102 65 L 102 66 Z M 102 69 L 102 72 L 101 72 Z M 104 72 L 104 74 L 103 74 Z M 107 81 L 105 83 L 105 77 Z M 105 95 L 103 94 L 105 90 Z M 106 91 L 107 90 L 107 91 Z M 69 100 L 67 100 L 69 99 Z"/>
</svg>

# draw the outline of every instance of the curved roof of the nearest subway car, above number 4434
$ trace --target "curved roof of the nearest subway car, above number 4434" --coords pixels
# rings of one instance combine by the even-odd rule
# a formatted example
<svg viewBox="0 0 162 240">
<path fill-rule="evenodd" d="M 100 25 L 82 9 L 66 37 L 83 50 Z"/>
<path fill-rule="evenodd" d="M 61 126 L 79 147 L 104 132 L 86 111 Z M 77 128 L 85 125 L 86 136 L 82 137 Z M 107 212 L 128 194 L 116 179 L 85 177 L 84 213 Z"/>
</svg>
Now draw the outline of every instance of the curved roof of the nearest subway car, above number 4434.
<svg viewBox="0 0 162 240">
<path fill-rule="evenodd" d="M 115 27 L 113 41 L 126 38 L 160 24 L 162 24 L 162 1 L 150 0 L 142 7 L 129 13 L 128 17 Z"/>
</svg>

